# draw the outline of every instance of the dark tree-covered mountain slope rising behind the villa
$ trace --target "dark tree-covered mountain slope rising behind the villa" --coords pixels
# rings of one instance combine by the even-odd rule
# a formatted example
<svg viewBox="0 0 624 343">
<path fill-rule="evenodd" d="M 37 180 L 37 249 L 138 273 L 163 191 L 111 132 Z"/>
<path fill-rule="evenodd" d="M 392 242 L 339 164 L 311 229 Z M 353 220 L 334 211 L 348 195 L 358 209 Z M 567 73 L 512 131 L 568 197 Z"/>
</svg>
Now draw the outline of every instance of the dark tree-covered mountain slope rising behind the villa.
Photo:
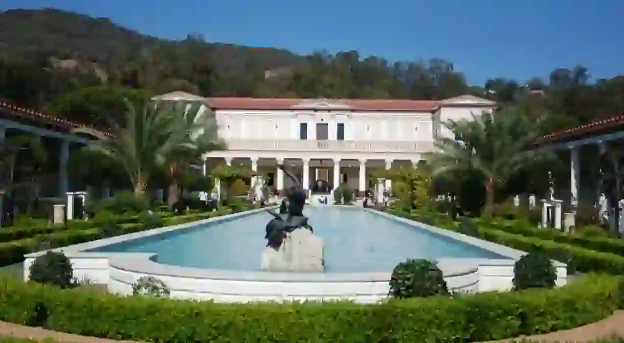
<svg viewBox="0 0 624 343">
<path fill-rule="evenodd" d="M 37 108 L 61 94 L 104 86 L 245 97 L 430 100 L 473 94 L 527 113 L 553 112 L 553 127 L 624 112 L 624 76 L 592 83 L 589 75 L 578 65 L 530 80 L 492 75 L 484 85 L 469 85 L 444 59 L 389 62 L 357 51 L 298 56 L 205 42 L 200 34 L 169 41 L 57 9 L 0 13 L 0 98 Z"/>
</svg>

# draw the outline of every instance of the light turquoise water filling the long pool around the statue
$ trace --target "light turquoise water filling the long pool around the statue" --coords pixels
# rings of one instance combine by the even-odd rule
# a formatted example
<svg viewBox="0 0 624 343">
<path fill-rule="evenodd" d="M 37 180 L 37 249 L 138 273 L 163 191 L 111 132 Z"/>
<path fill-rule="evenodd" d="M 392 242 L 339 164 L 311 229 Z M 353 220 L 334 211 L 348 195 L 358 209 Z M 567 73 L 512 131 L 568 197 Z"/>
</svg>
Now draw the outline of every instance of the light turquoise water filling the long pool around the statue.
<svg viewBox="0 0 624 343">
<path fill-rule="evenodd" d="M 406 258 L 505 258 L 489 250 L 357 208 L 305 209 L 325 244 L 326 272 L 389 272 Z M 235 220 L 139 238 L 90 251 L 157 253 L 158 263 L 260 271 L 265 226 L 260 212 Z"/>
</svg>

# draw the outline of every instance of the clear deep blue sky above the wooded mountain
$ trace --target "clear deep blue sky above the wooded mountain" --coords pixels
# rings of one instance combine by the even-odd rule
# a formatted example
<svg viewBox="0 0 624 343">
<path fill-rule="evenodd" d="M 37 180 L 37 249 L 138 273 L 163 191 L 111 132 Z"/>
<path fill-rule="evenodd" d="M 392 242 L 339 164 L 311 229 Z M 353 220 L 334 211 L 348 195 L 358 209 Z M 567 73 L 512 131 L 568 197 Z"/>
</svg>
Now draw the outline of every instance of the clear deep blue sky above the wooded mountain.
<svg viewBox="0 0 624 343">
<path fill-rule="evenodd" d="M 470 84 L 527 80 L 583 64 L 624 74 L 623 0 L 1 0 L 0 9 L 55 7 L 153 36 L 307 54 L 356 49 L 394 60 L 441 57 Z"/>
</svg>

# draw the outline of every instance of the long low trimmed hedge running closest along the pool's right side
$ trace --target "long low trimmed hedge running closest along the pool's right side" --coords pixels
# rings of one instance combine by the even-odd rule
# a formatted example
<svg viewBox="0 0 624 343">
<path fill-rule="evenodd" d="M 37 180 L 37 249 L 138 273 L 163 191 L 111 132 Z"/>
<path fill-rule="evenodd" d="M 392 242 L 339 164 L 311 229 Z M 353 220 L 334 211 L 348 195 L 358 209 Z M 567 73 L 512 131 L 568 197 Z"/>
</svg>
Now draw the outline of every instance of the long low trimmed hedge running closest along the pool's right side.
<svg viewBox="0 0 624 343">
<path fill-rule="evenodd" d="M 406 216 L 405 213 L 394 213 L 399 216 Z M 452 221 L 448 216 L 440 216 L 436 213 L 416 213 L 412 212 L 409 219 L 420 221 L 439 228 L 460 232 L 459 223 Z M 469 234 L 469 233 L 464 233 Z M 495 227 L 480 225 L 476 234 L 470 234 L 476 238 L 485 239 L 492 243 L 498 243 L 510 248 L 522 251 L 543 251 L 550 258 L 568 264 L 568 273 L 574 271 L 603 272 L 608 274 L 624 273 L 624 256 L 612 253 L 603 253 L 592 249 L 580 248 L 566 243 L 558 243 L 540 239 L 534 236 L 523 236 L 501 231 Z"/>
</svg>

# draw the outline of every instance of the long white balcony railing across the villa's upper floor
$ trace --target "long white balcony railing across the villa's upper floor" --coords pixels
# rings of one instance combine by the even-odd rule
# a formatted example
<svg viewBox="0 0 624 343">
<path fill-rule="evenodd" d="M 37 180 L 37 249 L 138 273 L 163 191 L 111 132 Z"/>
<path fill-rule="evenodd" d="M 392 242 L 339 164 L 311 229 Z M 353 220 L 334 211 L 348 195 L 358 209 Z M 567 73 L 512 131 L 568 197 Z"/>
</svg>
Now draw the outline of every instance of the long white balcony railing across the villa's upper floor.
<svg viewBox="0 0 624 343">
<path fill-rule="evenodd" d="M 287 150 L 336 152 L 434 152 L 433 142 L 363 140 L 228 140 L 228 150 Z"/>
</svg>

